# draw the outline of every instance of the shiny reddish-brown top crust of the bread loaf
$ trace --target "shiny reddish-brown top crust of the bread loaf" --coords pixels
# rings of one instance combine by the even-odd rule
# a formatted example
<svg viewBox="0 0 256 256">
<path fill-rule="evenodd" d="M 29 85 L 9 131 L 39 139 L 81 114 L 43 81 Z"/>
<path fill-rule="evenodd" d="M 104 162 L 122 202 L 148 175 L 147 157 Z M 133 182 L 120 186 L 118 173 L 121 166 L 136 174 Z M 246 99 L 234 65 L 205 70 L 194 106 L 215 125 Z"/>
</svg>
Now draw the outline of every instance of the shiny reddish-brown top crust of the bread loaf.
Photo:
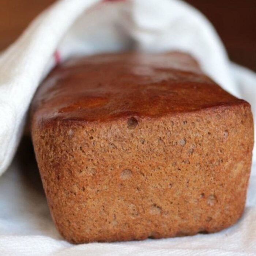
<svg viewBox="0 0 256 256">
<path fill-rule="evenodd" d="M 155 118 L 248 104 L 230 95 L 188 54 L 114 53 L 70 59 L 35 94 L 33 121 Z"/>
</svg>

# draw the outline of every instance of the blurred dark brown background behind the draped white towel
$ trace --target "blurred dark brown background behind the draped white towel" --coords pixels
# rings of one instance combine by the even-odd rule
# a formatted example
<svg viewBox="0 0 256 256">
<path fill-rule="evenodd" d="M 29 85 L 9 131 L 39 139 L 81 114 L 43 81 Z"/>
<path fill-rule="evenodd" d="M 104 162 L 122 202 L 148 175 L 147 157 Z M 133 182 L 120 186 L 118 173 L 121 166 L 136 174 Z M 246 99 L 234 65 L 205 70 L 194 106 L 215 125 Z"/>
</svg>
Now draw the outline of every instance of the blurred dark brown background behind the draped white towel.
<svg viewBox="0 0 256 256">
<path fill-rule="evenodd" d="M 55 0 L 0 0 L 0 50 Z M 214 24 L 230 59 L 255 71 L 255 0 L 187 0 Z"/>
</svg>

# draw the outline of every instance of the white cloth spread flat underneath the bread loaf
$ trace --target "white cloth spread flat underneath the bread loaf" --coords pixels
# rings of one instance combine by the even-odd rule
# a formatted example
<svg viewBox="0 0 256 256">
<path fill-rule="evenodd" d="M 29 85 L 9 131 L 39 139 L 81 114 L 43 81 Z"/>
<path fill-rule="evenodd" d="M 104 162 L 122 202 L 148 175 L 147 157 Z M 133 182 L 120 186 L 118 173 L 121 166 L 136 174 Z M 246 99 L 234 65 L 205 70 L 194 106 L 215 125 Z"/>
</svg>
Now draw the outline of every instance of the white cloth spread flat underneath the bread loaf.
<svg viewBox="0 0 256 256">
<path fill-rule="evenodd" d="M 256 255 L 256 165 L 252 167 L 244 213 L 225 230 L 189 237 L 72 245 L 54 227 L 35 160 L 28 152 L 22 145 L 0 178 L 1 256 Z"/>
</svg>

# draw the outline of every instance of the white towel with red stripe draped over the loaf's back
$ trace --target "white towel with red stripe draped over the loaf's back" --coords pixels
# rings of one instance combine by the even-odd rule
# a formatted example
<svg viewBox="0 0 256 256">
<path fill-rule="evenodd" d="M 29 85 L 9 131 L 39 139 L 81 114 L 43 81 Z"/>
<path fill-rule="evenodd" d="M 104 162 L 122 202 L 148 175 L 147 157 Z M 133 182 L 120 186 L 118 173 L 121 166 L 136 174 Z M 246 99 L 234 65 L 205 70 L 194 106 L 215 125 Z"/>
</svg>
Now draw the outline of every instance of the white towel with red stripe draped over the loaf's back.
<svg viewBox="0 0 256 256">
<path fill-rule="evenodd" d="M 0 175 L 15 154 L 33 94 L 57 61 L 131 48 L 191 53 L 224 89 L 248 99 L 256 113 L 255 74 L 248 72 L 249 83 L 235 82 L 214 28 L 185 2 L 61 0 L 42 12 L 0 57 Z"/>
</svg>

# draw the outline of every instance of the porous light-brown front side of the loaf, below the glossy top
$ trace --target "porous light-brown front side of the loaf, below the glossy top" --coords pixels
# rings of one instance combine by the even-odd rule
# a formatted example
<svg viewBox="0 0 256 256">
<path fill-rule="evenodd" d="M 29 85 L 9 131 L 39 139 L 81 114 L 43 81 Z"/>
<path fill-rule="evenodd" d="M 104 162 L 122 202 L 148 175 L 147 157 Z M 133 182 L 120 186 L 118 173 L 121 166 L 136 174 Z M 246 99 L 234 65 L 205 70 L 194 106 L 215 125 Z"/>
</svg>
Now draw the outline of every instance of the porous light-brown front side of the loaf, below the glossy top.
<svg viewBox="0 0 256 256">
<path fill-rule="evenodd" d="M 253 147 L 246 102 L 157 118 L 43 121 L 32 118 L 35 155 L 70 242 L 211 233 L 242 214 Z"/>
</svg>

